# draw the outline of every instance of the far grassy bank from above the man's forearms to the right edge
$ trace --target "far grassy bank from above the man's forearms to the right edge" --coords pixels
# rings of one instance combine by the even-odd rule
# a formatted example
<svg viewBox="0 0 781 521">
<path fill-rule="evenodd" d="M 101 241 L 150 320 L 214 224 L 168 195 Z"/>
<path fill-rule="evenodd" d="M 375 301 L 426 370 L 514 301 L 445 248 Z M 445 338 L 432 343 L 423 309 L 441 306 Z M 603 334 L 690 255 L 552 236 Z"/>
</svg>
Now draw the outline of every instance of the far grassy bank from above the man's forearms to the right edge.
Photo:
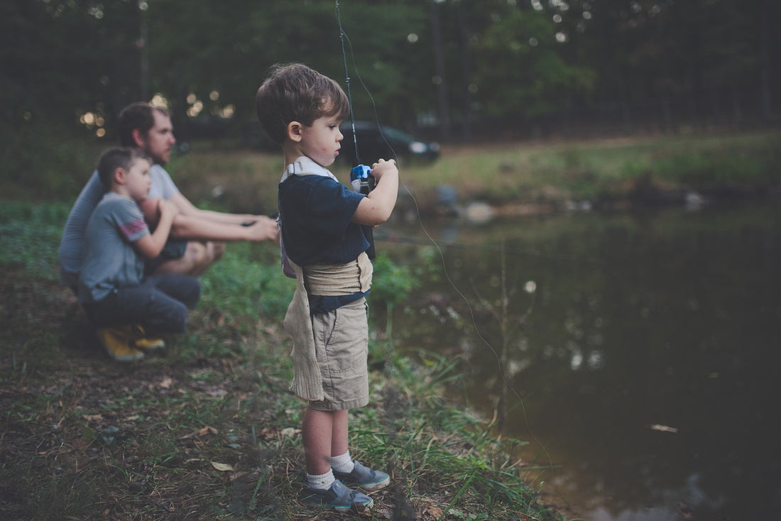
<svg viewBox="0 0 781 521">
<path fill-rule="evenodd" d="M 183 191 L 207 204 L 272 212 L 282 159 L 278 154 L 195 148 L 173 165 Z M 781 132 L 522 142 L 445 147 L 431 164 L 401 165 L 401 205 L 415 196 L 423 212 L 437 208 L 437 187 L 450 185 L 465 203 L 615 205 L 659 202 L 696 191 L 704 197 L 761 195 L 779 188 Z M 333 171 L 344 179 L 348 166 Z M 665 194 L 668 195 L 665 198 Z"/>
</svg>

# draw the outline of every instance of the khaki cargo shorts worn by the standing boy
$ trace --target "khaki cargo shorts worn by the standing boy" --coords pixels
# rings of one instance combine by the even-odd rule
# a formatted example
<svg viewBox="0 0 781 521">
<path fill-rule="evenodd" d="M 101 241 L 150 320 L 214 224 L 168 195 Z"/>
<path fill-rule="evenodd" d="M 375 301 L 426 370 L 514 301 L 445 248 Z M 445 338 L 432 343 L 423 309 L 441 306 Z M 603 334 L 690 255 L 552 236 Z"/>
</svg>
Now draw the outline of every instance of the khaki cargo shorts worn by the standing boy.
<svg viewBox="0 0 781 521">
<path fill-rule="evenodd" d="M 339 411 L 369 403 L 366 298 L 312 315 L 312 330 L 325 398 L 309 401 L 309 407 L 319 411 Z"/>
</svg>

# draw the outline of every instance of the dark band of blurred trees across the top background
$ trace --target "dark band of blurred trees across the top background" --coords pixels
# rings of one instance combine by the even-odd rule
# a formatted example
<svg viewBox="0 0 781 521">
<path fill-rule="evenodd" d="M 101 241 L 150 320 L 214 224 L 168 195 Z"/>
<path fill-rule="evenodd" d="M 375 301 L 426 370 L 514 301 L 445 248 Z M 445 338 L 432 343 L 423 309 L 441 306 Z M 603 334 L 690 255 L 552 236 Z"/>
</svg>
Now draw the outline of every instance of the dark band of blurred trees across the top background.
<svg viewBox="0 0 781 521">
<path fill-rule="evenodd" d="M 772 0 L 8 0 L 0 130 L 20 176 L 58 134 L 113 142 L 119 109 L 155 94 L 181 134 L 239 133 L 269 66 L 294 61 L 404 129 L 677 98 L 772 120 L 778 22 Z"/>
</svg>

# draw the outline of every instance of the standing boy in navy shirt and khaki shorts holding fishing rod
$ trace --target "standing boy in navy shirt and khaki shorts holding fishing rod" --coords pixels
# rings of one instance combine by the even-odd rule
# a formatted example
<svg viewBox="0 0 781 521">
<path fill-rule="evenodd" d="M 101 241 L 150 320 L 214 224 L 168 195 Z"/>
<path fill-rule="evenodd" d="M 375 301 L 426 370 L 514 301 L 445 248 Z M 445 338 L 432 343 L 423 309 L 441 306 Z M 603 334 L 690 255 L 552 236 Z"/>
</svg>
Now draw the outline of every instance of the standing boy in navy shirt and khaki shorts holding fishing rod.
<svg viewBox="0 0 781 521">
<path fill-rule="evenodd" d="M 398 194 L 393 160 L 373 164 L 376 187 L 351 191 L 326 170 L 339 155 L 348 98 L 328 77 L 301 64 L 275 66 L 255 98 L 258 119 L 282 146 L 281 240 L 297 280 L 284 325 L 293 338 L 291 391 L 307 400 L 302 438 L 307 505 L 371 509 L 350 487 L 379 490 L 390 476 L 352 461 L 348 409 L 369 402 L 366 294 L 372 263 L 363 226 L 384 223 Z"/>
</svg>

